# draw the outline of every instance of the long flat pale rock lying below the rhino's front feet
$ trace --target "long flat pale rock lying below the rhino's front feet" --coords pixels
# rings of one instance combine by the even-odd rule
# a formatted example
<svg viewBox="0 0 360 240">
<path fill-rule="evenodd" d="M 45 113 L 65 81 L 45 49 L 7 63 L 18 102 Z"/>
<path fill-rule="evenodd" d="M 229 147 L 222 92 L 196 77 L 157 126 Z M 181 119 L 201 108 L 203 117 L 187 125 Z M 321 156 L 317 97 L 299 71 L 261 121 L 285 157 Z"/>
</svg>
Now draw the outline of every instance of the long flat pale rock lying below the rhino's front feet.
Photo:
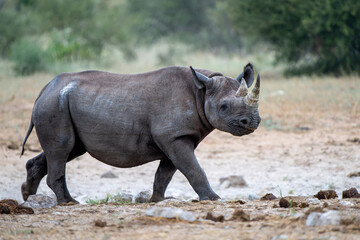
<svg viewBox="0 0 360 240">
<path fill-rule="evenodd" d="M 192 212 L 184 211 L 181 208 L 174 207 L 151 207 L 146 210 L 145 214 L 149 217 L 176 218 L 190 222 L 196 220 L 196 216 Z"/>
</svg>

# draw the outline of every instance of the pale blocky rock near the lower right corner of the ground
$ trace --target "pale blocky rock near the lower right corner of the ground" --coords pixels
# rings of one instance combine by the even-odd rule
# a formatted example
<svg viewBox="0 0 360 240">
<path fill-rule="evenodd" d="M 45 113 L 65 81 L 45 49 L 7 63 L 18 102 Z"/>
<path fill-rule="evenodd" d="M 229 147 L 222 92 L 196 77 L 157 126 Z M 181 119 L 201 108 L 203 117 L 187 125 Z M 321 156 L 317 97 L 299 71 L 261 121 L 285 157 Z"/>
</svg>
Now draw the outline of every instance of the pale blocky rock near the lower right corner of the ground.
<svg viewBox="0 0 360 240">
<path fill-rule="evenodd" d="M 328 211 L 326 213 L 312 212 L 306 219 L 306 226 L 340 225 L 339 211 Z"/>
</svg>

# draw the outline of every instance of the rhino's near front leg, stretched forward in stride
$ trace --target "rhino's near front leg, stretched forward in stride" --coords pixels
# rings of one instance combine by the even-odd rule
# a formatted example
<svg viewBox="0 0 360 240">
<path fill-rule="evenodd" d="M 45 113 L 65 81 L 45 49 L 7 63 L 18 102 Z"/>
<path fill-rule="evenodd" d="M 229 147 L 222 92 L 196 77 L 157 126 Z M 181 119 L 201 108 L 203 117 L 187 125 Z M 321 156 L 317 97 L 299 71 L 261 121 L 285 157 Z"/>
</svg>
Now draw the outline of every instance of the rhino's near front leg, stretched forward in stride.
<svg viewBox="0 0 360 240">
<path fill-rule="evenodd" d="M 211 189 L 204 170 L 194 153 L 194 142 L 191 138 L 173 141 L 165 150 L 174 166 L 188 179 L 201 200 L 216 200 L 220 197 Z"/>
</svg>

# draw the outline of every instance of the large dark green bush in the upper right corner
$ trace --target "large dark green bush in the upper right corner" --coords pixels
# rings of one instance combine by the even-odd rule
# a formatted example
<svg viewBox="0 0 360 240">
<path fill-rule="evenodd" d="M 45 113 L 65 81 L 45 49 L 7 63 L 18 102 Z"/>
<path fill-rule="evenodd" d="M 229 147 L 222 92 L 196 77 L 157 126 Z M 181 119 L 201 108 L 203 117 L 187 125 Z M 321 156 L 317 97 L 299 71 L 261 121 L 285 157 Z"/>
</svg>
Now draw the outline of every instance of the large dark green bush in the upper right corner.
<svg viewBox="0 0 360 240">
<path fill-rule="evenodd" d="M 228 0 L 239 33 L 272 44 L 293 74 L 360 73 L 360 1 Z"/>
</svg>

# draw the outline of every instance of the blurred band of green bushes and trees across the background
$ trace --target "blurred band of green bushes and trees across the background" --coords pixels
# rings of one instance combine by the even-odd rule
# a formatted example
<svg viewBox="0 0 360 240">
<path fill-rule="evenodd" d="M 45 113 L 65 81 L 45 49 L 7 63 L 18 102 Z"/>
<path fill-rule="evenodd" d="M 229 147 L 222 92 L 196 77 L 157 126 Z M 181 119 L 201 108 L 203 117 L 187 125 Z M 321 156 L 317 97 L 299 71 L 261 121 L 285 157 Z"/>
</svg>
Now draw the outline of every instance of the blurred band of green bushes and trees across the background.
<svg viewBox="0 0 360 240">
<path fill-rule="evenodd" d="M 185 44 L 229 58 L 275 51 L 290 74 L 359 74 L 358 15 L 351 0 L 0 0 L 0 57 L 25 75 L 117 49 L 139 60 L 137 49 L 167 42 L 158 65 L 181 62 Z"/>
</svg>

